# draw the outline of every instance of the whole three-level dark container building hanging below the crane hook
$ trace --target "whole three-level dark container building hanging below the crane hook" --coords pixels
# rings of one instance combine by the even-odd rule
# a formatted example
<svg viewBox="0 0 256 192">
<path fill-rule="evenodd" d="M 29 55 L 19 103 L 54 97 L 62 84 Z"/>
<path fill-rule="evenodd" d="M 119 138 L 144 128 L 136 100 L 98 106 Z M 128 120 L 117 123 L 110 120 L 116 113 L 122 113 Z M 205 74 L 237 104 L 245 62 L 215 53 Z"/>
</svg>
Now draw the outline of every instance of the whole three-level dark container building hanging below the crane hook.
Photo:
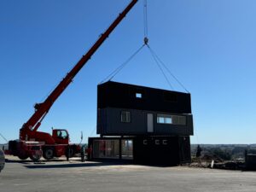
<svg viewBox="0 0 256 192">
<path fill-rule="evenodd" d="M 90 159 L 177 165 L 190 161 L 190 94 L 108 81 L 97 87 Z"/>
</svg>

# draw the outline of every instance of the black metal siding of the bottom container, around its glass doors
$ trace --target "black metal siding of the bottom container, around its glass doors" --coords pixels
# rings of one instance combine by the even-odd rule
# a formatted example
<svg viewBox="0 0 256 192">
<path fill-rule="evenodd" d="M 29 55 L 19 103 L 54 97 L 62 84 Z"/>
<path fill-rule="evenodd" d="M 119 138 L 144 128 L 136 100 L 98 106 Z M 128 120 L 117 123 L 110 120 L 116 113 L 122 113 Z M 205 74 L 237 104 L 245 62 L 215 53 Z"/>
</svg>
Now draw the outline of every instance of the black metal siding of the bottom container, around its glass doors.
<svg viewBox="0 0 256 192">
<path fill-rule="evenodd" d="M 191 161 L 189 137 L 89 137 L 89 147 L 94 140 L 131 139 L 133 141 L 133 162 L 137 164 L 177 166 Z M 121 156 L 120 156 L 121 157 Z M 94 154 L 89 160 L 97 159 Z"/>
</svg>

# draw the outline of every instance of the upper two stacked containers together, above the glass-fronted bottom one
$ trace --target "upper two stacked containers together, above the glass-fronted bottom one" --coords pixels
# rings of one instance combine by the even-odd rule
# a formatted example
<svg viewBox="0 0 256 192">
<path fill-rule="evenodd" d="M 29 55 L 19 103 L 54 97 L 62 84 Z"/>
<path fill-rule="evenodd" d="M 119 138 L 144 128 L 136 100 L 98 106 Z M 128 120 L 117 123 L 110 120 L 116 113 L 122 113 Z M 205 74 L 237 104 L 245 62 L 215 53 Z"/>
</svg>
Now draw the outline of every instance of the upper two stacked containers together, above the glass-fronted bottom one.
<svg viewBox="0 0 256 192">
<path fill-rule="evenodd" d="M 190 94 L 108 81 L 98 85 L 102 136 L 193 135 Z"/>
</svg>

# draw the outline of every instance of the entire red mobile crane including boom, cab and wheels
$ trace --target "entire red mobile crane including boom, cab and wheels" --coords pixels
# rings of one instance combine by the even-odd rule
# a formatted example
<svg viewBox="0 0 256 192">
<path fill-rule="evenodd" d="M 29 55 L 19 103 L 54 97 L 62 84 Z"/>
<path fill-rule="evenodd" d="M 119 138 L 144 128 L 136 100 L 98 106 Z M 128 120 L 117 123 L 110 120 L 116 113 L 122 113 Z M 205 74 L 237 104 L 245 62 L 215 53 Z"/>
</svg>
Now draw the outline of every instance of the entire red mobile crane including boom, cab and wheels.
<svg viewBox="0 0 256 192">
<path fill-rule="evenodd" d="M 108 38 L 114 28 L 119 25 L 119 22 L 125 18 L 125 15 L 133 8 L 138 0 L 132 0 L 131 3 L 123 10 L 122 13 L 113 21 L 108 27 L 107 31 L 102 33 L 102 36 L 98 38 L 96 43 L 83 55 L 79 62 L 73 67 L 73 69 L 67 73 L 66 77 L 61 80 L 60 84 L 55 87 L 44 102 L 37 103 L 35 113 L 31 118 L 22 125 L 20 129 L 20 141 L 10 141 L 9 151 L 11 154 L 17 155 L 20 159 L 24 160 L 30 157 L 32 160 L 40 159 L 41 155 L 49 160 L 54 156 L 61 156 L 67 154 L 67 146 L 72 152 L 68 155 L 74 154 L 79 150 L 77 145 L 69 145 L 69 135 L 66 130 L 53 130 L 52 135 L 46 132 L 38 131 L 41 122 L 43 121 L 49 109 L 54 102 L 61 96 L 61 93 L 66 90 L 67 86 L 73 81 L 73 78 L 84 67 L 90 57 L 96 52 L 96 50 L 102 45 L 102 43 Z"/>
</svg>

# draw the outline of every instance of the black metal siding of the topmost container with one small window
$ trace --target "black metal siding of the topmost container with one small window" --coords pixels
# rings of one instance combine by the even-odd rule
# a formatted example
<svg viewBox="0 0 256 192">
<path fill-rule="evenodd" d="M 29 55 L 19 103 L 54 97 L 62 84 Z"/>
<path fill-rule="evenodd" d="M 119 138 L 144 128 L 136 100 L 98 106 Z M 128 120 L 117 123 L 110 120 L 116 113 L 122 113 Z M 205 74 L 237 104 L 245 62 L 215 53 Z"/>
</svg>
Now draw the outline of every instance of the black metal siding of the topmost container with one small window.
<svg viewBox="0 0 256 192">
<path fill-rule="evenodd" d="M 142 98 L 137 98 L 141 93 Z M 97 108 L 132 108 L 166 113 L 191 113 L 190 94 L 108 81 L 97 87 Z"/>
</svg>

